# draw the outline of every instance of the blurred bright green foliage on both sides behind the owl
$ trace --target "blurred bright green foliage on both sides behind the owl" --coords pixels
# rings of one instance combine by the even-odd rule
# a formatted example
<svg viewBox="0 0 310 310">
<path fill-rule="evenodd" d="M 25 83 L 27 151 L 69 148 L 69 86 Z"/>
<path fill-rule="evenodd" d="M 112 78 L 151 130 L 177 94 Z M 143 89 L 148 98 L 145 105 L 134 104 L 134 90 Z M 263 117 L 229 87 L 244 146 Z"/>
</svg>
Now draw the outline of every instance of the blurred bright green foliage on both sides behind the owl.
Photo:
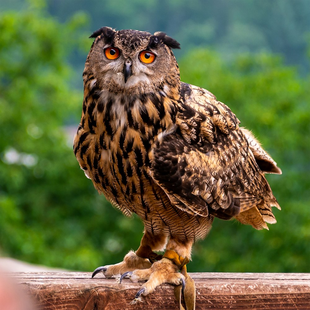
<svg viewBox="0 0 310 310">
<path fill-rule="evenodd" d="M 68 141 L 65 125 L 77 128 L 83 98 L 81 64 L 76 70 L 70 57 L 85 59 L 91 46 L 87 16 L 62 23 L 40 3 L 0 21 L 1 254 L 92 271 L 137 249 L 143 225 L 98 195 Z M 280 56 L 242 53 L 228 61 L 206 48 L 188 51 L 179 67 L 181 80 L 226 103 L 283 171 L 267 176 L 282 207 L 278 223 L 256 231 L 215 219 L 194 246 L 189 271 L 309 272 L 308 77 Z"/>
</svg>

